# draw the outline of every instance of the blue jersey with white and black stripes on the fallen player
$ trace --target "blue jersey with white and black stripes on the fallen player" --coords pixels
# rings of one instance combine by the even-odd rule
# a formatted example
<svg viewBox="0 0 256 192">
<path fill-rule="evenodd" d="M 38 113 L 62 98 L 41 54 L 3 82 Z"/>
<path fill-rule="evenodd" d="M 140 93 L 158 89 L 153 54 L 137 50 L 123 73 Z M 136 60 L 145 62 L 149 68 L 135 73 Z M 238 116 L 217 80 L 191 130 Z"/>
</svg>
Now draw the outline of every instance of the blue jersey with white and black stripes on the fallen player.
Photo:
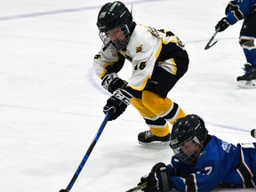
<svg viewBox="0 0 256 192">
<path fill-rule="evenodd" d="M 175 175 L 171 176 L 173 185 L 179 191 L 209 191 L 220 185 L 256 188 L 255 147 L 256 143 L 234 146 L 211 136 L 195 165 L 184 164 L 172 156 L 167 167 Z"/>
</svg>

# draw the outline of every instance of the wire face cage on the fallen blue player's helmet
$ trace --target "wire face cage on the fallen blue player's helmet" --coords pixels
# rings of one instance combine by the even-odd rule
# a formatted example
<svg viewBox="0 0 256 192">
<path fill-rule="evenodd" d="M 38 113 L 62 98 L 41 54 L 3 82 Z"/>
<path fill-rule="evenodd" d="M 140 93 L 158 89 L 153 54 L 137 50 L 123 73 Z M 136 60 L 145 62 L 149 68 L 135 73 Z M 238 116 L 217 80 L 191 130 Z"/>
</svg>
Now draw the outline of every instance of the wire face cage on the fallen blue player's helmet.
<svg viewBox="0 0 256 192">
<path fill-rule="evenodd" d="M 194 136 L 180 144 L 175 144 L 175 140 L 171 140 L 170 147 L 175 156 L 177 156 L 183 163 L 195 164 L 203 145 L 200 143 L 200 140 Z"/>
</svg>

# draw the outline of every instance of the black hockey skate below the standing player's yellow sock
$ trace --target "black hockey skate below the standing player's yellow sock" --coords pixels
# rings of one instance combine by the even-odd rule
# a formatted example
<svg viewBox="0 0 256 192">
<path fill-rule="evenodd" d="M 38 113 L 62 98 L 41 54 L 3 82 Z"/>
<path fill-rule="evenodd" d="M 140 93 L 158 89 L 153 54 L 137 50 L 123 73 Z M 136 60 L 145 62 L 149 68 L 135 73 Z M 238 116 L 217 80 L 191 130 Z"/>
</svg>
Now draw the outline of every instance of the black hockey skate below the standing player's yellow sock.
<svg viewBox="0 0 256 192">
<path fill-rule="evenodd" d="M 170 133 L 164 137 L 157 137 L 153 135 L 150 130 L 145 132 L 140 132 L 138 135 L 138 140 L 141 145 L 169 145 L 170 143 Z"/>
</svg>

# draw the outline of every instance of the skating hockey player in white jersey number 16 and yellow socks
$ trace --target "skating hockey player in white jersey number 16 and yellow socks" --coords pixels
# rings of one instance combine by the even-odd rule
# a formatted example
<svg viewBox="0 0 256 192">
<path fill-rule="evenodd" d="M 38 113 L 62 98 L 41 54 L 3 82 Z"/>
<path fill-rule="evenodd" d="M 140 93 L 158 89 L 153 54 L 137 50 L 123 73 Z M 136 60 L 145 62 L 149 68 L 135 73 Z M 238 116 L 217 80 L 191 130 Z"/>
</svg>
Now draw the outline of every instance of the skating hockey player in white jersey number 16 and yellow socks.
<svg viewBox="0 0 256 192">
<path fill-rule="evenodd" d="M 138 135 L 140 144 L 169 143 L 169 123 L 185 116 L 180 106 L 167 98 L 188 70 L 184 44 L 171 31 L 134 22 L 132 13 L 119 1 L 101 7 L 97 26 L 103 45 L 94 57 L 94 71 L 112 93 L 104 113 L 112 110 L 109 120 L 115 120 L 131 102 L 149 127 Z M 117 76 L 125 59 L 133 68 L 127 82 Z"/>
</svg>

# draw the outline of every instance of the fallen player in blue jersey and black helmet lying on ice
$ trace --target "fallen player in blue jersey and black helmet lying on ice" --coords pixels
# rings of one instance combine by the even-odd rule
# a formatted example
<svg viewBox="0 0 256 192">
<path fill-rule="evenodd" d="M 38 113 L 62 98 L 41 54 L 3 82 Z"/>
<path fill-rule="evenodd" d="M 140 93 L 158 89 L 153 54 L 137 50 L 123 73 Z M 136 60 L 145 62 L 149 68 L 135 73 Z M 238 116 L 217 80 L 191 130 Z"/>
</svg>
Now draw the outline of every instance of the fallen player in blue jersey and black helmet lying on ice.
<svg viewBox="0 0 256 192">
<path fill-rule="evenodd" d="M 188 115 L 172 127 L 171 164 L 155 164 L 140 179 L 142 191 L 256 188 L 256 143 L 234 146 L 208 134 L 202 118 Z"/>
</svg>

